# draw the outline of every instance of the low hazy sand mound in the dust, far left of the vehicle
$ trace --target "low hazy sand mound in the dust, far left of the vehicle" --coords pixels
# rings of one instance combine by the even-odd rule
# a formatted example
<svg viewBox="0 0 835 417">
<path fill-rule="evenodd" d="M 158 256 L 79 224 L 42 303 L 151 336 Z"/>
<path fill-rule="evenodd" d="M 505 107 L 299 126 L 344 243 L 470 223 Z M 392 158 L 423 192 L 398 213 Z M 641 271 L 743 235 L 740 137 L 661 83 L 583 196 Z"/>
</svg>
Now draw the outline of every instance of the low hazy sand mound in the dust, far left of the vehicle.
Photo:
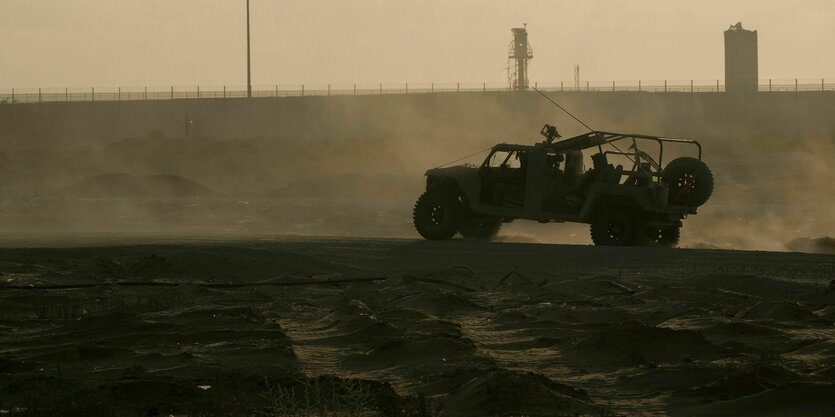
<svg viewBox="0 0 835 417">
<path fill-rule="evenodd" d="M 56 192 L 72 198 L 196 198 L 217 195 L 208 187 L 177 175 L 103 174 Z"/>
</svg>

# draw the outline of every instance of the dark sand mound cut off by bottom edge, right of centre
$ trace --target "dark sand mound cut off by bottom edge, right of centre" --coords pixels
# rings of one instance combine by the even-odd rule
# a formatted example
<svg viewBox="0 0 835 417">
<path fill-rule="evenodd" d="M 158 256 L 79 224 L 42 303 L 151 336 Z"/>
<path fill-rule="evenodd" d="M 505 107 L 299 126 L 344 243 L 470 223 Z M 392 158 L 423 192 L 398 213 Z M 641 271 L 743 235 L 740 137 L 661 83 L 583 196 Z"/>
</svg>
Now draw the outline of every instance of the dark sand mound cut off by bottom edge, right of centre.
<svg viewBox="0 0 835 417">
<path fill-rule="evenodd" d="M 585 391 L 535 373 L 484 371 L 450 392 L 443 411 L 455 416 L 597 415 Z"/>
</svg>

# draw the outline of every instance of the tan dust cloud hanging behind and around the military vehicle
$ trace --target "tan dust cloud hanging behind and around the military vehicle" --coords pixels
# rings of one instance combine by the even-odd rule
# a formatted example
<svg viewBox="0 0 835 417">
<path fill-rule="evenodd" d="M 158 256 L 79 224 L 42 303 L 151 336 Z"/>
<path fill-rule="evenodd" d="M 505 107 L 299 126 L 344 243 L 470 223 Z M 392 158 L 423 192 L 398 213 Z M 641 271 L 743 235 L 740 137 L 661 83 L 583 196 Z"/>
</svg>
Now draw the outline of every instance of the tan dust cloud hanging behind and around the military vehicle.
<svg viewBox="0 0 835 417">
<path fill-rule="evenodd" d="M 701 141 L 716 189 L 685 221 L 683 247 L 816 251 L 790 242 L 835 234 L 835 125 L 826 105 L 806 112 L 802 102 L 827 104 L 828 96 L 555 97 L 598 130 Z M 36 238 L 415 238 L 411 208 L 426 169 L 473 154 L 457 163 L 480 163 L 486 153 L 478 151 L 498 142 L 533 143 L 544 123 L 556 123 L 564 136 L 584 131 L 535 93 L 343 97 L 323 109 L 304 100 L 284 102 L 282 109 L 302 109 L 292 118 L 271 113 L 275 101 L 257 111 L 248 104 L 243 122 L 235 120 L 243 110 L 209 105 L 193 111 L 198 128 L 188 136 L 179 121 L 165 121 L 169 116 L 144 116 L 122 122 L 125 131 L 144 131 L 132 137 L 119 136 L 115 126 L 109 138 L 61 142 L 61 122 L 54 121 L 43 145 L 29 141 L 0 152 L 0 227 Z M 104 108 L 99 113 L 92 114 L 107 118 Z M 33 127 L 19 130 L 26 129 Z M 93 130 L 91 137 L 101 135 Z M 674 156 L 665 149 L 666 161 Z M 506 225 L 500 240 L 590 243 L 584 225 L 525 221 Z"/>
</svg>

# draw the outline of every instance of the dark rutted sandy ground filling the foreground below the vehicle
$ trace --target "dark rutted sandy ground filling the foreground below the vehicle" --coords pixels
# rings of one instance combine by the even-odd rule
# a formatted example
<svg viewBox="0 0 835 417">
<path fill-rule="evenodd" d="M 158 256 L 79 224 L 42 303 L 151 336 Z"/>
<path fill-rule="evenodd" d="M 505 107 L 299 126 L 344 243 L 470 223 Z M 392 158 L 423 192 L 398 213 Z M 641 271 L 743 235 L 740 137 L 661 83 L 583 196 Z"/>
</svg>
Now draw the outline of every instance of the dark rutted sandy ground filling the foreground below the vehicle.
<svg viewBox="0 0 835 417">
<path fill-rule="evenodd" d="M 835 413 L 831 255 L 101 242 L 0 250 L 3 415 Z"/>
</svg>

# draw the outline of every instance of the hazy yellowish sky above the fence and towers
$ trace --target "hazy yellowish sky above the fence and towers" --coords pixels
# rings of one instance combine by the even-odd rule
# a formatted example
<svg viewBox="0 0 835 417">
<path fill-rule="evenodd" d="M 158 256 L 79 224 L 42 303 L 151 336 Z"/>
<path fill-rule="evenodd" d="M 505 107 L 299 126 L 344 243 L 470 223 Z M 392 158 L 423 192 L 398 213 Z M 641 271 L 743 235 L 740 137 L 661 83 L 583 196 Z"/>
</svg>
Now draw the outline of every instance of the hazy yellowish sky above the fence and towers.
<svg viewBox="0 0 835 417">
<path fill-rule="evenodd" d="M 534 81 L 835 78 L 832 0 L 251 0 L 254 85 L 494 82 L 528 24 Z M 246 84 L 245 0 L 0 0 L 0 88 Z"/>
</svg>

